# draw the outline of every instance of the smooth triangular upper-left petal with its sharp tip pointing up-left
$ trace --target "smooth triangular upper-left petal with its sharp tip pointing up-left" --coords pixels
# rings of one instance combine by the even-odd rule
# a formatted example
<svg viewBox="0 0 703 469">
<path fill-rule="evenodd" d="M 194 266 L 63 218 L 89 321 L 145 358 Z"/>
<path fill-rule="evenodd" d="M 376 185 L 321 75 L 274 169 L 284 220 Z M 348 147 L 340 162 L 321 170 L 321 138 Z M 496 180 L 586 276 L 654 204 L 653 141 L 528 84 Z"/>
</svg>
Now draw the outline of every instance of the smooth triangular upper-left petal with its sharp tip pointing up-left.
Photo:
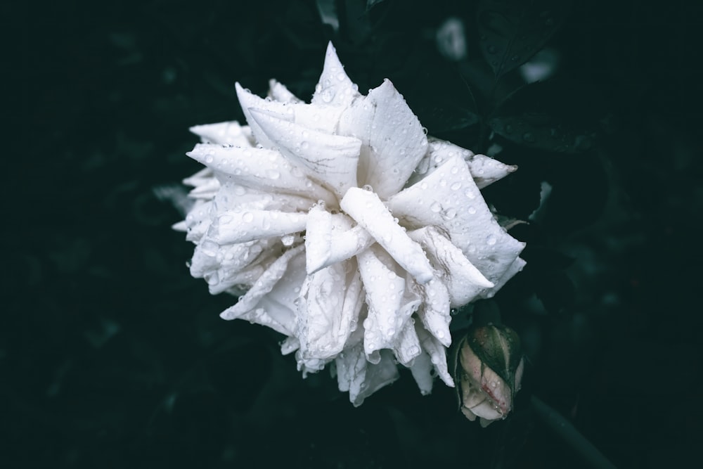
<svg viewBox="0 0 703 469">
<path fill-rule="evenodd" d="M 361 141 L 307 129 L 263 110 L 251 109 L 253 120 L 291 162 L 338 195 L 356 186 Z"/>
</svg>

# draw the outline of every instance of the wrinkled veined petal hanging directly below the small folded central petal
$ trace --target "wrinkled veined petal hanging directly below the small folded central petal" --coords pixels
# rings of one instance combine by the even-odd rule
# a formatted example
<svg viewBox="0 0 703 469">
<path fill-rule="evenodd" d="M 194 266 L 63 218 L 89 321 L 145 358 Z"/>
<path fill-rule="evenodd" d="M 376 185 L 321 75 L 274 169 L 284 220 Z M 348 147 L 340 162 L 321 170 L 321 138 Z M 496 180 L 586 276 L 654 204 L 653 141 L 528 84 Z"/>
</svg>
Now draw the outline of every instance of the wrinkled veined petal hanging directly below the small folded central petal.
<svg viewBox="0 0 703 469">
<path fill-rule="evenodd" d="M 303 357 L 327 359 L 342 352 L 363 305 L 356 262 L 339 263 L 308 276 L 300 292 L 297 337 Z"/>
</svg>

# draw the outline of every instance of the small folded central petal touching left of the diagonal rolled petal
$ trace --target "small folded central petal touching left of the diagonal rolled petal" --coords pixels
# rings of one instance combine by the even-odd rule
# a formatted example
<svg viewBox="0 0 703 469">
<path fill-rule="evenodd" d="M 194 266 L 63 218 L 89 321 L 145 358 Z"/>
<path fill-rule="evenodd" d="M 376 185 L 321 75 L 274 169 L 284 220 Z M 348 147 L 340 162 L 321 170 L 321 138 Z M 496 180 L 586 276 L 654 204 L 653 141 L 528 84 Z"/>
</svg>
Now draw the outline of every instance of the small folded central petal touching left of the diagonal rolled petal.
<svg viewBox="0 0 703 469">
<path fill-rule="evenodd" d="M 344 214 L 331 214 L 322 205 L 314 205 L 308 213 L 305 227 L 307 273 L 342 262 L 368 248 L 373 237 Z"/>
</svg>

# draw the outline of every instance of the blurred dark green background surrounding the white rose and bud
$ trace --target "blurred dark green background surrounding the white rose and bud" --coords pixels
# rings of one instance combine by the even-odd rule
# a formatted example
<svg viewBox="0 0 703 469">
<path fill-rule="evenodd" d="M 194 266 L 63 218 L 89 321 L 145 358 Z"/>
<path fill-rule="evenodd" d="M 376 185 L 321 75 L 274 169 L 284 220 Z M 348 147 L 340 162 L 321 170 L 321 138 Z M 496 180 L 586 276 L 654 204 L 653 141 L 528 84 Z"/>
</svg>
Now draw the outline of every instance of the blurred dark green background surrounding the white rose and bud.
<svg viewBox="0 0 703 469">
<path fill-rule="evenodd" d="M 475 123 L 520 86 L 508 74 L 484 93 L 477 2 L 337 3 L 336 33 L 303 0 L 2 7 L 0 466 L 590 467 L 534 395 L 619 468 L 686 467 L 703 418 L 702 8 L 571 8 L 547 42 L 565 81 L 517 103 L 558 101 L 557 122 L 598 134 L 558 153 Z M 466 25 L 460 63 L 434 43 L 450 15 Z M 501 144 L 520 165 L 485 192 L 502 214 L 527 218 L 553 187 L 515 229 L 528 267 L 491 302 L 529 357 L 504 422 L 479 428 L 453 390 L 421 397 L 409 373 L 354 409 L 327 371 L 302 380 L 276 333 L 221 321 L 233 298 L 188 275 L 180 214 L 155 195 L 198 170 L 188 127 L 243 120 L 235 81 L 308 98 L 330 39 L 361 91 L 392 79 L 430 134 Z"/>
</svg>

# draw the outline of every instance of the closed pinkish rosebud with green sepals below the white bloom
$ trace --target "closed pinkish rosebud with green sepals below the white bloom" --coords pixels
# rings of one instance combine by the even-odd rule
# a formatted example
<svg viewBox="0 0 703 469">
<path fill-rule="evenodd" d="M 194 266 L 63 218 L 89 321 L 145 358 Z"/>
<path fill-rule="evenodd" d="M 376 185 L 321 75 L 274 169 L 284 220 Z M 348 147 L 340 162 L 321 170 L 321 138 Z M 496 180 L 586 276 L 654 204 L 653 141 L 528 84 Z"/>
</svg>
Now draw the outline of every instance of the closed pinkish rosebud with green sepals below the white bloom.
<svg viewBox="0 0 703 469">
<path fill-rule="evenodd" d="M 462 413 L 485 427 L 508 416 L 520 390 L 520 338 L 505 326 L 474 327 L 456 349 L 454 378 Z"/>
</svg>

